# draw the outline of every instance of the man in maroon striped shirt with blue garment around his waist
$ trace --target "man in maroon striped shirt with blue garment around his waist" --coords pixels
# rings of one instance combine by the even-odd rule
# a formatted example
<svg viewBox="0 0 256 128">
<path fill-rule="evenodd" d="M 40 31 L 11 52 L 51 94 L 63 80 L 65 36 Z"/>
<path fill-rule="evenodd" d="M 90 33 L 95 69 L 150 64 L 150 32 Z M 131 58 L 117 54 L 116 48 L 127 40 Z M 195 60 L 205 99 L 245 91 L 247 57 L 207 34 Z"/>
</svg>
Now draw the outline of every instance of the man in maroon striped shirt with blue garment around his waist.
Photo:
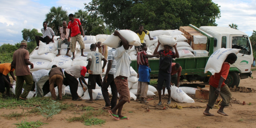
<svg viewBox="0 0 256 128">
<path fill-rule="evenodd" d="M 150 81 L 150 72 L 151 69 L 149 67 L 149 60 L 148 58 L 157 57 L 159 58 L 160 55 L 149 55 L 147 54 L 147 44 L 142 43 L 141 45 L 142 50 L 137 54 L 137 78 L 139 78 L 138 82 L 138 89 L 137 89 L 137 98 L 136 101 L 139 101 L 139 95 L 141 95 L 141 103 L 147 103 L 145 98 L 147 97 L 147 90 L 149 87 Z"/>
</svg>

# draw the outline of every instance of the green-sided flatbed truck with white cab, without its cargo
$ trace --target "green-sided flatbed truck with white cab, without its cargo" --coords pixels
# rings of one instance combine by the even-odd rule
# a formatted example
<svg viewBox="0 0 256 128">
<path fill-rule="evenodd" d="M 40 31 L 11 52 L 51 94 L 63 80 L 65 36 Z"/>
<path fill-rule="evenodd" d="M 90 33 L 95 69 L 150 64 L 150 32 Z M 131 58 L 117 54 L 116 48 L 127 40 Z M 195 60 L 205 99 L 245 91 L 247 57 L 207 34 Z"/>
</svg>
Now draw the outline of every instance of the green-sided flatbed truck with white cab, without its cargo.
<svg viewBox="0 0 256 128">
<path fill-rule="evenodd" d="M 209 52 L 209 56 L 219 48 L 241 49 L 237 54 L 237 61 L 231 65 L 229 75 L 225 80 L 229 87 L 238 86 L 240 79 L 251 77 L 253 51 L 249 36 L 246 33 L 228 27 L 201 26 L 197 28 L 191 24 L 189 26 L 207 37 L 206 50 Z M 209 56 L 176 58 L 173 60 L 182 67 L 180 80 L 209 82 L 211 73 L 204 73 Z M 137 72 L 136 60 L 133 60 L 130 66 Z M 149 66 L 151 68 L 151 79 L 157 79 L 159 59 L 149 59 Z"/>
</svg>

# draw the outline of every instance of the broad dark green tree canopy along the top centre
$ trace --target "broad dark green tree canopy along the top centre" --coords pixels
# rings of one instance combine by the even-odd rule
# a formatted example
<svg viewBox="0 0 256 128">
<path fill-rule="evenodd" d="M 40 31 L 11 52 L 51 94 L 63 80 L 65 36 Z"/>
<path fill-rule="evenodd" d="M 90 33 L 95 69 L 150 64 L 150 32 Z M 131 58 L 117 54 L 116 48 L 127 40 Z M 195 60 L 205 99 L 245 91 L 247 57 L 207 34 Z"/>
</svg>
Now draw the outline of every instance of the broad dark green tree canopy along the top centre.
<svg viewBox="0 0 256 128">
<path fill-rule="evenodd" d="M 216 26 L 221 17 L 211 0 L 92 0 L 85 3 L 91 15 L 99 15 L 106 25 L 137 30 L 139 24 L 150 31 L 178 29 L 193 24 Z"/>
</svg>

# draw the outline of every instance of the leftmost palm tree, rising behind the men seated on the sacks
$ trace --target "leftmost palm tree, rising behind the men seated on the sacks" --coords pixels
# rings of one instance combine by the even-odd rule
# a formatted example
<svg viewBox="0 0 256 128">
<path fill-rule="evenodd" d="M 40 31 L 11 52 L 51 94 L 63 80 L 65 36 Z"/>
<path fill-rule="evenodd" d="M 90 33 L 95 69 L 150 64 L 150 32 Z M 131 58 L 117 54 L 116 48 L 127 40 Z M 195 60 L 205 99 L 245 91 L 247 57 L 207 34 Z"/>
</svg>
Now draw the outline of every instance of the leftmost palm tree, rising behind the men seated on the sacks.
<svg viewBox="0 0 256 128">
<path fill-rule="evenodd" d="M 46 15 L 45 21 L 48 22 L 48 27 L 51 27 L 55 32 L 55 35 L 59 35 L 59 27 L 62 26 L 62 22 L 69 22 L 69 17 L 67 16 L 67 11 L 62 9 L 62 7 L 51 7 L 49 13 Z"/>
</svg>

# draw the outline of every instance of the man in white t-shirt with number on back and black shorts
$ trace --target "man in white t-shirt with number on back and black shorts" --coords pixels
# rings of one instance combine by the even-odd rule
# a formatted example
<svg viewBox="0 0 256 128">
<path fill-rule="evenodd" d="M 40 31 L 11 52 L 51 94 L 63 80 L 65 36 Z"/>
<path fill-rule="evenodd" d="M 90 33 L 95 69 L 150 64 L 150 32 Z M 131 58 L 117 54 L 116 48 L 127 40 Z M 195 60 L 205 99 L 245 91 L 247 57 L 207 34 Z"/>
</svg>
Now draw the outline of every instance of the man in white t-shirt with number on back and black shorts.
<svg viewBox="0 0 256 128">
<path fill-rule="evenodd" d="M 96 45 L 91 44 L 91 51 L 87 54 L 87 70 L 89 73 L 88 78 L 88 93 L 90 99 L 85 101 L 88 103 L 93 103 L 93 90 L 96 87 L 96 83 L 99 87 L 102 87 L 101 74 L 104 72 L 104 68 L 107 63 L 107 59 L 98 51 L 96 51 Z M 101 61 L 104 61 L 103 66 L 101 66 Z"/>
</svg>

